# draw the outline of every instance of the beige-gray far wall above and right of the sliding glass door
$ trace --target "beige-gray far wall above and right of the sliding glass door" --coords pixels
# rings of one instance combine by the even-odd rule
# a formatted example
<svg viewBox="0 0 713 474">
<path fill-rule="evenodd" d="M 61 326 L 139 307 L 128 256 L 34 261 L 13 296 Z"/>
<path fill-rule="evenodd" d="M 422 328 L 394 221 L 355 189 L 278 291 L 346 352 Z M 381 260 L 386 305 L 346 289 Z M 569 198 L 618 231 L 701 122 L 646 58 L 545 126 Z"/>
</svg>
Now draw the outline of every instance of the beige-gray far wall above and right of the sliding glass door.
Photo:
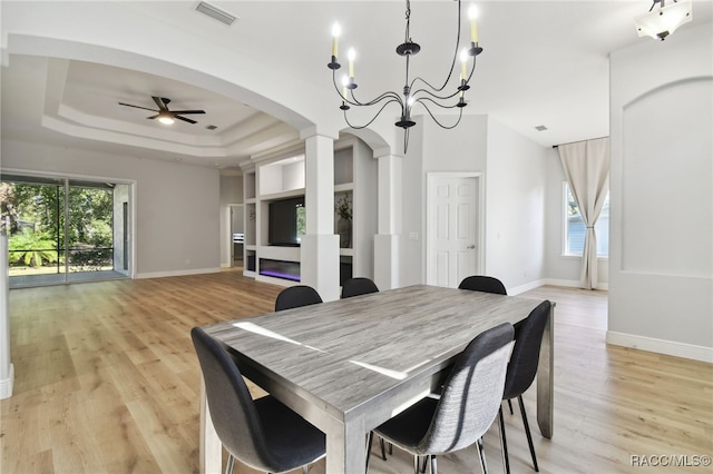
<svg viewBox="0 0 713 474">
<path fill-rule="evenodd" d="M 218 170 L 2 140 L 3 169 L 136 181 L 136 276 L 219 269 Z"/>
</svg>

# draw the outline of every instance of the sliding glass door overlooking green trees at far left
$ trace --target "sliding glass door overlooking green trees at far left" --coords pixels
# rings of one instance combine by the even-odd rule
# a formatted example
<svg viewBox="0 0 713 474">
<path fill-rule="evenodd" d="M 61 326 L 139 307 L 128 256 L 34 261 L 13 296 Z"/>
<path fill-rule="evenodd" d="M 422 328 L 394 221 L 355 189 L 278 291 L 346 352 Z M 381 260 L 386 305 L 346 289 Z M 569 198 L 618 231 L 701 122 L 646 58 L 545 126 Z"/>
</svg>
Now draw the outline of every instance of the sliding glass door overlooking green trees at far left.
<svg viewBox="0 0 713 474">
<path fill-rule="evenodd" d="M 129 185 L 2 175 L 10 287 L 127 278 Z"/>
</svg>

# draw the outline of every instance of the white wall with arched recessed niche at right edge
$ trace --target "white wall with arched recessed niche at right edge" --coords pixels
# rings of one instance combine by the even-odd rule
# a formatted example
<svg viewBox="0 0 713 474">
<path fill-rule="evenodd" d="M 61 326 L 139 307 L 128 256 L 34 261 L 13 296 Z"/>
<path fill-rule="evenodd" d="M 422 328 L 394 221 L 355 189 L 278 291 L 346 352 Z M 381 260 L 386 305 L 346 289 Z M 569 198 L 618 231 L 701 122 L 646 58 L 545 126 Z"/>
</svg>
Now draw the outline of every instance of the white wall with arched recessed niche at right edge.
<svg viewBox="0 0 713 474">
<path fill-rule="evenodd" d="M 607 342 L 713 362 L 713 28 L 612 53 Z"/>
</svg>

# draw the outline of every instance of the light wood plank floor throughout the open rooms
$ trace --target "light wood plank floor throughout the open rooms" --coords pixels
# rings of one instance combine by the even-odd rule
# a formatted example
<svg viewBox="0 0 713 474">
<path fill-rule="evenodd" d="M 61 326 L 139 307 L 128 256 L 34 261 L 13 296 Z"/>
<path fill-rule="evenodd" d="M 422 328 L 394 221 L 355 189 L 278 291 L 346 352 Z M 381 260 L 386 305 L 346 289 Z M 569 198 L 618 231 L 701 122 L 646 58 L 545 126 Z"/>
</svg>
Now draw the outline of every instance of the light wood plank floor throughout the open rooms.
<svg viewBox="0 0 713 474">
<path fill-rule="evenodd" d="M 226 271 L 11 290 L 16 385 L 0 402 L 0 472 L 197 472 L 189 329 L 270 312 L 280 289 Z M 606 293 L 541 287 L 525 296 L 557 303 L 551 441 L 537 431 L 534 389 L 525 395 L 540 472 L 635 473 L 653 468 L 632 466 L 633 455 L 687 464 L 713 455 L 713 365 L 606 346 Z M 512 472 L 531 473 L 520 418 L 506 418 Z M 490 471 L 501 472 L 497 426 L 485 441 Z M 411 472 L 398 451 L 372 460 L 373 473 Z M 439 471 L 479 472 L 476 450 L 442 456 Z M 311 472 L 324 473 L 324 463 Z"/>
</svg>

